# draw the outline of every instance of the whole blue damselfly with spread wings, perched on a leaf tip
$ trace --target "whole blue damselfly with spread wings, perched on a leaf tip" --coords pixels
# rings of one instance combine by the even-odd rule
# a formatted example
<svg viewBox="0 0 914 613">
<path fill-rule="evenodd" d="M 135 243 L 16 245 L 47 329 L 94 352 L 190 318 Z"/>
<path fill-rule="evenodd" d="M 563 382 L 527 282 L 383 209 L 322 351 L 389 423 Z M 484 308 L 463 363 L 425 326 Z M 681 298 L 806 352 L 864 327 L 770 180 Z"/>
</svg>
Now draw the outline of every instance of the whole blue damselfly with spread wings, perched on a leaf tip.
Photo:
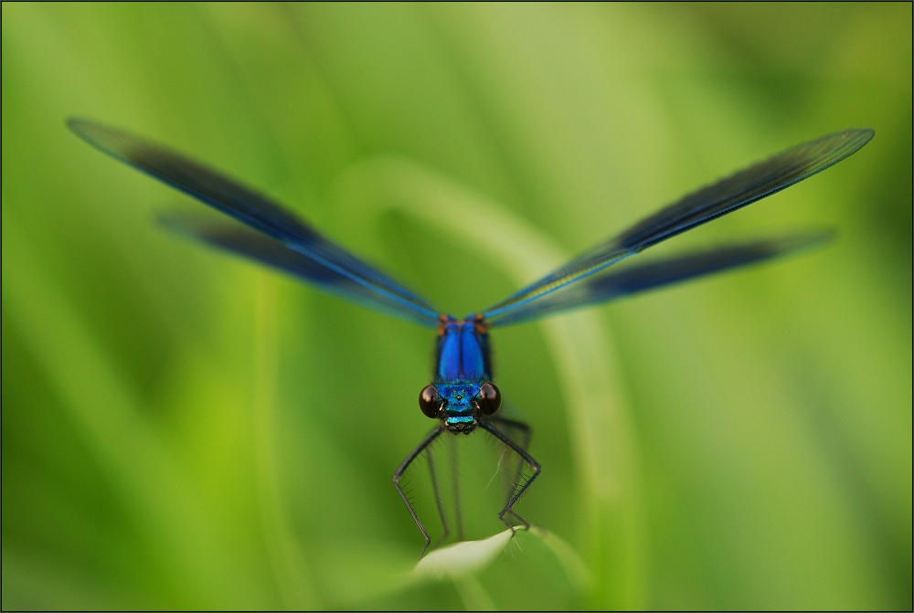
<svg viewBox="0 0 914 613">
<path fill-rule="evenodd" d="M 512 519 L 528 525 L 514 512 L 514 505 L 537 478 L 540 467 L 526 450 L 526 424 L 497 414 L 501 393 L 492 381 L 489 330 L 773 258 L 821 240 L 824 233 L 807 232 L 607 270 L 645 248 L 798 183 L 840 162 L 873 138 L 872 130 L 846 130 L 797 145 L 685 196 L 505 300 L 460 320 L 438 311 L 419 294 L 356 258 L 282 206 L 203 164 L 101 123 L 71 119 L 69 127 L 104 153 L 246 225 L 172 218 L 168 223 L 173 228 L 290 272 L 345 300 L 436 331 L 432 382 L 422 388 L 419 406 L 426 417 L 438 423 L 393 476 L 400 497 L 425 538 L 425 548 L 430 544 L 429 534 L 399 481 L 413 460 L 444 432 L 461 435 L 483 428 L 526 463 L 530 473 L 510 491 L 499 518 L 511 527 L 515 525 Z M 509 436 L 512 430 L 522 434 L 522 442 Z"/>
</svg>

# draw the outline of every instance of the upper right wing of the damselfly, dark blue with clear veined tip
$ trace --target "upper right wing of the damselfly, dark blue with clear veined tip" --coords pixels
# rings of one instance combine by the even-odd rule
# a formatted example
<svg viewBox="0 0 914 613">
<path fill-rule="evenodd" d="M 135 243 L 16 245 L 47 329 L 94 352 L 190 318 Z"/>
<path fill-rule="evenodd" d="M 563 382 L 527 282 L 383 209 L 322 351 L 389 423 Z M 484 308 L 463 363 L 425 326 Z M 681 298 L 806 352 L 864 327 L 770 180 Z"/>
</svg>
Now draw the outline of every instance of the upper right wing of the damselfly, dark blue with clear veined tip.
<svg viewBox="0 0 914 613">
<path fill-rule="evenodd" d="M 872 130 L 836 132 L 816 141 L 797 145 L 714 185 L 699 189 L 647 217 L 618 237 L 585 251 L 543 279 L 485 310 L 483 315 L 489 321 L 495 322 L 512 310 L 539 300 L 569 283 L 589 277 L 644 248 L 675 237 L 760 198 L 771 196 L 855 153 L 873 138 L 873 133 Z"/>
</svg>

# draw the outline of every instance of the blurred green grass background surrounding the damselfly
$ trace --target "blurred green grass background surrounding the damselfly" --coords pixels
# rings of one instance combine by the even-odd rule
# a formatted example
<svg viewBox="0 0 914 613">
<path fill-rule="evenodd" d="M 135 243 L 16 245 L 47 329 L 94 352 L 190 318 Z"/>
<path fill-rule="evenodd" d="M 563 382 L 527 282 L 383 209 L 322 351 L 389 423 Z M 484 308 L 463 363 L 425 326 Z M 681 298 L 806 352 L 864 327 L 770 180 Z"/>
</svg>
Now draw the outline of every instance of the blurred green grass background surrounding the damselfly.
<svg viewBox="0 0 914 613">
<path fill-rule="evenodd" d="M 3 608 L 911 607 L 910 4 L 4 3 L 2 44 Z M 404 585 L 432 335 L 169 236 L 202 206 L 70 115 L 458 315 L 792 144 L 876 138 L 652 250 L 826 247 L 494 332 L 544 466 L 518 510 L 575 592 L 530 544 Z"/>
</svg>

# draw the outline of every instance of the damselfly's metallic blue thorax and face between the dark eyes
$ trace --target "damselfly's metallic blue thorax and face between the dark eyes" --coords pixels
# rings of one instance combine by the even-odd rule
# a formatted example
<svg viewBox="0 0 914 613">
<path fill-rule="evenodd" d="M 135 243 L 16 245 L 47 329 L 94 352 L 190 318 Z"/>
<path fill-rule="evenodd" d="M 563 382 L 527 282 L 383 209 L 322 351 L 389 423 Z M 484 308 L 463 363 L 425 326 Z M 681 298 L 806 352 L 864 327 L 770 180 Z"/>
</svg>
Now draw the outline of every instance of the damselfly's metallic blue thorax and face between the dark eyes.
<svg viewBox="0 0 914 613">
<path fill-rule="evenodd" d="M 489 335 L 481 316 L 459 322 L 441 317 L 433 386 L 441 397 L 444 426 L 453 433 L 469 434 L 479 417 L 480 387 L 492 380 Z M 475 403 L 474 403 L 475 401 Z"/>
</svg>

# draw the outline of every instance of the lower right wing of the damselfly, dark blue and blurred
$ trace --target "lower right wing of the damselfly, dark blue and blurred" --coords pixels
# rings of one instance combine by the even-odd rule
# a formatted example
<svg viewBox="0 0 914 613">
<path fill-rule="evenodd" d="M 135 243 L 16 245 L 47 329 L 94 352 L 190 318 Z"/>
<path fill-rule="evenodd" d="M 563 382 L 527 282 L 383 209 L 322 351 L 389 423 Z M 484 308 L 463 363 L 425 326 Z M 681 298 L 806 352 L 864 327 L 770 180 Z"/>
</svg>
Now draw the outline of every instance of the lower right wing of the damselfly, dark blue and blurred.
<svg viewBox="0 0 914 613">
<path fill-rule="evenodd" d="M 603 271 L 579 283 L 566 285 L 537 301 L 526 302 L 503 315 L 496 315 L 490 323 L 493 326 L 505 326 L 529 322 L 558 312 L 611 301 L 639 291 L 775 258 L 799 248 L 810 247 L 830 236 L 830 232 L 815 232 L 763 239 L 697 251 L 676 258 L 660 259 L 624 270 Z"/>
</svg>

